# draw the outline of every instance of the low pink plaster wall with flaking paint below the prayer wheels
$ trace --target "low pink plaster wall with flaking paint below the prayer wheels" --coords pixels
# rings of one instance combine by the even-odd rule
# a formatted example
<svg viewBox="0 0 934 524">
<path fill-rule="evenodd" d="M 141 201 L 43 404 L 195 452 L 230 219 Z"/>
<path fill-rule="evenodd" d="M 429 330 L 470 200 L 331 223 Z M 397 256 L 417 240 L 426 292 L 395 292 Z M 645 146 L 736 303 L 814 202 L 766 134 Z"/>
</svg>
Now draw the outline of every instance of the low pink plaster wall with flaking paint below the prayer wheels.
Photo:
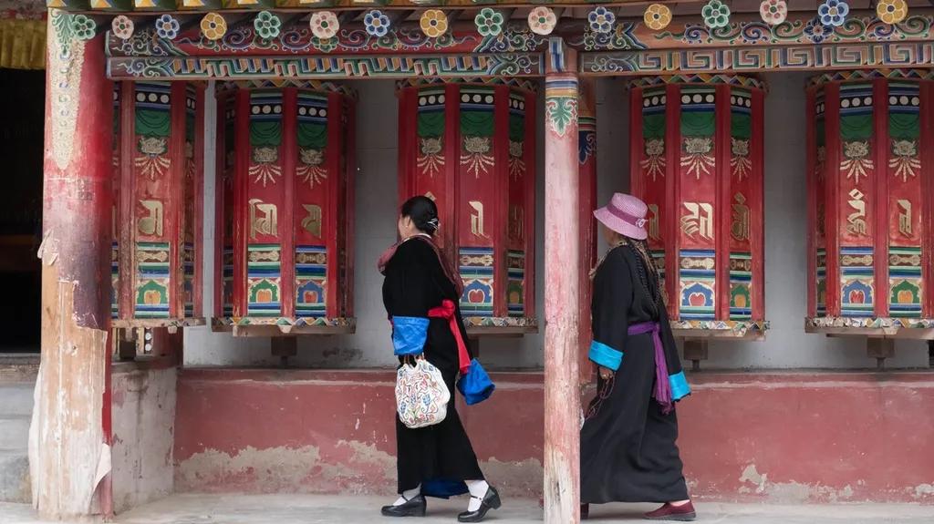
<svg viewBox="0 0 934 524">
<path fill-rule="evenodd" d="M 188 369 L 179 374 L 177 492 L 395 488 L 388 371 Z M 495 374 L 460 409 L 508 496 L 542 487 L 540 373 Z M 680 405 L 695 496 L 771 503 L 934 503 L 934 375 L 704 373 Z"/>
</svg>

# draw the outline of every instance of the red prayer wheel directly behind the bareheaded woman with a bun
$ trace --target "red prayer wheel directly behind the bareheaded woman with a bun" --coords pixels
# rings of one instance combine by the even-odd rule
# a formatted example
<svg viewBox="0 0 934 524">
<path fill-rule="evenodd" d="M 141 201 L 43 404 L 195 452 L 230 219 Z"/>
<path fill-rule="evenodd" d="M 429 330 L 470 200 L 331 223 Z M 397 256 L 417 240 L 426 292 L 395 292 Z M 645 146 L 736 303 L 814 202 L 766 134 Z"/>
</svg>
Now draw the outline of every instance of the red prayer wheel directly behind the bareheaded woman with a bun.
<svg viewBox="0 0 934 524">
<path fill-rule="evenodd" d="M 403 82 L 400 201 L 425 195 L 464 283 L 473 334 L 535 321 L 535 101 L 531 83 Z"/>
</svg>

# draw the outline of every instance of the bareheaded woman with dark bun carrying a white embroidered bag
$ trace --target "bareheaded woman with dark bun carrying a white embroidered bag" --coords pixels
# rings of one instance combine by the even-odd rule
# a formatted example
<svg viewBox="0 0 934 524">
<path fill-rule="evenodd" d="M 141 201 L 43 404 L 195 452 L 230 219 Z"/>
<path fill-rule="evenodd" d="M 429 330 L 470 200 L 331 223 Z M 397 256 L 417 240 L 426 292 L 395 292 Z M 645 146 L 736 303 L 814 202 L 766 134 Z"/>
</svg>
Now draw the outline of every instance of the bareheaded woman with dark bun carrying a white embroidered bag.
<svg viewBox="0 0 934 524">
<path fill-rule="evenodd" d="M 416 359 L 416 365 L 425 369 L 430 365 L 440 372 L 450 400 L 459 374 L 458 386 L 469 403 L 486 398 L 492 393 L 492 384 L 488 378 L 483 380 L 486 374 L 464 344 L 466 331 L 458 307 L 460 278 L 433 240 L 439 228 L 434 202 L 426 197 L 406 200 L 398 228 L 401 241 L 380 256 L 379 270 L 386 277 L 383 304 L 392 323 L 392 345 L 402 363 L 400 372 L 414 371 L 403 366 Z M 471 377 L 474 371 L 476 375 Z M 408 398 L 405 392 L 397 393 L 400 398 Z M 428 403 L 438 402 L 433 393 L 423 396 Z M 408 427 L 406 422 L 417 424 L 417 417 L 405 416 L 407 407 L 402 403 L 397 407 L 403 412 L 403 417 L 399 413 L 396 417 L 401 496 L 382 508 L 384 516 L 422 517 L 427 506 L 425 497 L 448 498 L 468 492 L 470 504 L 458 516 L 460 522 L 480 522 L 490 509 L 500 507 L 499 493 L 480 471 L 454 402 L 446 403 L 443 418 L 430 415 L 433 423 L 423 427 Z"/>
</svg>

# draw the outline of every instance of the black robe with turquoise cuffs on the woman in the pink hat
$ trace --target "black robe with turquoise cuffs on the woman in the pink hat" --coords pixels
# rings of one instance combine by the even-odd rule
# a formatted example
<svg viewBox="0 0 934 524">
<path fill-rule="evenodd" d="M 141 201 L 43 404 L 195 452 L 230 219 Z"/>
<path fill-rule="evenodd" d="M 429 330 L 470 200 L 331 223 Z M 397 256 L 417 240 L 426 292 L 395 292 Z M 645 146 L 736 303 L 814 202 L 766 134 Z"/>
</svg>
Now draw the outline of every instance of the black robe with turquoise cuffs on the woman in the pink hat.
<svg viewBox="0 0 934 524">
<path fill-rule="evenodd" d="M 594 347 L 621 357 L 612 379 L 599 379 L 597 396 L 581 429 L 581 503 L 666 503 L 687 499 L 675 440 L 674 411 L 665 415 L 653 398 L 656 381 L 651 334 L 629 335 L 630 325 L 660 323 L 672 398 L 689 392 L 664 304 L 653 296 L 658 282 L 630 245 L 618 246 L 601 263 L 593 281 Z M 611 365 L 612 367 L 612 365 Z"/>
</svg>

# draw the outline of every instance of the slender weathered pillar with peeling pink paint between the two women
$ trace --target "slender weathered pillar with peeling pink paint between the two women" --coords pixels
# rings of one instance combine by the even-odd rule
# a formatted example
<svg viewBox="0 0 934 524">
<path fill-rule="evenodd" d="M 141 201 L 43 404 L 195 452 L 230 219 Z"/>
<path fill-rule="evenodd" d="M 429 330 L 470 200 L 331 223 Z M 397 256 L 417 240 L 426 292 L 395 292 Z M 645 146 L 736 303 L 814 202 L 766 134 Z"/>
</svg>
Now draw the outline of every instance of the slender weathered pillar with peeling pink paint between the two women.
<svg viewBox="0 0 934 524">
<path fill-rule="evenodd" d="M 549 43 L 545 76 L 545 522 L 580 520 L 577 57 Z"/>
</svg>

